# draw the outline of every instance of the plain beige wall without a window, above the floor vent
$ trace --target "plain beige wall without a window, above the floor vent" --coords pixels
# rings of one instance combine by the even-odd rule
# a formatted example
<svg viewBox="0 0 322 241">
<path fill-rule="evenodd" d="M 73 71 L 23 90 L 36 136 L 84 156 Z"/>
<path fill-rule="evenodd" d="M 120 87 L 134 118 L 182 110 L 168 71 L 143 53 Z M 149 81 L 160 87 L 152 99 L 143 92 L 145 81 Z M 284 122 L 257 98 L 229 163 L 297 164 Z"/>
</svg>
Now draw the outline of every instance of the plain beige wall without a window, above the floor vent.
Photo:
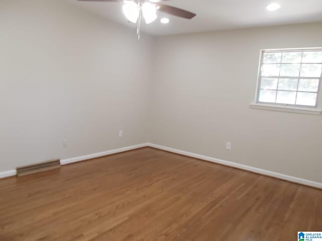
<svg viewBox="0 0 322 241">
<path fill-rule="evenodd" d="M 0 172 L 147 141 L 152 37 L 56 0 L 1 0 L 0 30 Z"/>
</svg>

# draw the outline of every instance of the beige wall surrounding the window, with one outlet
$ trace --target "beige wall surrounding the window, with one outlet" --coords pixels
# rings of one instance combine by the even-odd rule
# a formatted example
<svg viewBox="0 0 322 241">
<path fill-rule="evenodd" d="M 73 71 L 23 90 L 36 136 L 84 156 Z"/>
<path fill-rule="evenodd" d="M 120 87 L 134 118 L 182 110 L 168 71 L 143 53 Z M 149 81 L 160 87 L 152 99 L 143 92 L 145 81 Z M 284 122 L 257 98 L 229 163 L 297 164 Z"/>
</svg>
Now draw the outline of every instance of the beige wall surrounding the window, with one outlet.
<svg viewBox="0 0 322 241">
<path fill-rule="evenodd" d="M 260 49 L 303 47 L 322 23 L 157 38 L 150 142 L 322 182 L 322 117 L 249 107 Z"/>
</svg>

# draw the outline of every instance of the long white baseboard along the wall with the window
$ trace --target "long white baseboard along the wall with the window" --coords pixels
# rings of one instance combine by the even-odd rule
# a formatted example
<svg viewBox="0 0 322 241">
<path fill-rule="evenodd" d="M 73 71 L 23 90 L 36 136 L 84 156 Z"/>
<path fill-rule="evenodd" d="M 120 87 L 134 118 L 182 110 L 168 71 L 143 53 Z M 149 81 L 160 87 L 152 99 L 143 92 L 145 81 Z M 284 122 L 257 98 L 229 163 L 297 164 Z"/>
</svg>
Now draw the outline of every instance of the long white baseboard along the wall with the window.
<svg viewBox="0 0 322 241">
<path fill-rule="evenodd" d="M 203 155 L 199 155 L 199 154 L 195 154 L 195 153 L 191 153 L 191 152 L 181 151 L 181 150 L 170 148 L 170 147 L 159 146 L 159 145 L 152 144 L 152 143 L 148 143 L 147 145 L 149 147 L 153 147 L 153 148 L 156 148 L 156 149 L 160 149 L 160 150 L 164 150 L 164 151 L 168 151 L 168 152 L 173 152 L 173 153 L 177 153 L 177 154 L 181 154 L 181 155 L 201 159 L 201 160 L 208 161 L 208 162 L 213 162 L 213 163 L 217 163 L 217 164 L 221 164 L 221 165 L 225 165 L 225 166 L 229 166 L 229 167 L 243 169 L 243 170 L 247 170 L 247 171 L 250 171 L 250 172 L 254 172 L 254 173 L 258 173 L 258 174 L 262 174 L 262 175 L 271 176 L 271 177 L 275 177 L 275 178 L 278 178 L 278 179 L 286 180 L 286 181 L 289 181 L 289 182 L 294 182 L 294 183 L 298 183 L 298 184 L 302 184 L 302 185 L 322 189 L 322 183 L 319 183 L 319 182 L 314 182 L 314 181 L 310 181 L 310 180 L 306 180 L 306 179 L 302 179 L 302 178 L 298 178 L 298 177 L 288 176 L 288 175 L 284 175 L 284 174 L 281 174 L 281 173 L 271 172 L 271 171 L 267 171 L 267 170 L 264 170 L 264 169 L 259 169 L 259 168 L 256 168 L 256 167 L 246 166 L 246 165 L 238 164 L 238 163 L 234 163 L 234 162 L 228 162 L 228 161 L 224 161 L 224 160 L 221 160 L 221 159 L 217 159 L 217 158 L 213 158 L 213 157 L 207 157 L 207 156 L 203 156 Z"/>
</svg>

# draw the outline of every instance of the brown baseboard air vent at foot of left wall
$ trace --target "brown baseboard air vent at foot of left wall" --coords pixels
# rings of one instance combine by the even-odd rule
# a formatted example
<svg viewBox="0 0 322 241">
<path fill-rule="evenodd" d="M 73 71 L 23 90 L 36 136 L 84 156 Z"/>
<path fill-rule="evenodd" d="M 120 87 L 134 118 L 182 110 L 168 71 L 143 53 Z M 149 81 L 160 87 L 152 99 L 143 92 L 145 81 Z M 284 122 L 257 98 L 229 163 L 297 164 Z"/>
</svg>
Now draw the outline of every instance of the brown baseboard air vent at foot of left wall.
<svg viewBox="0 0 322 241">
<path fill-rule="evenodd" d="M 17 176 L 25 176 L 37 172 L 43 172 L 55 168 L 60 168 L 60 160 L 53 160 L 49 162 L 42 162 L 37 163 L 34 165 L 24 166 L 24 167 L 17 167 Z"/>
</svg>

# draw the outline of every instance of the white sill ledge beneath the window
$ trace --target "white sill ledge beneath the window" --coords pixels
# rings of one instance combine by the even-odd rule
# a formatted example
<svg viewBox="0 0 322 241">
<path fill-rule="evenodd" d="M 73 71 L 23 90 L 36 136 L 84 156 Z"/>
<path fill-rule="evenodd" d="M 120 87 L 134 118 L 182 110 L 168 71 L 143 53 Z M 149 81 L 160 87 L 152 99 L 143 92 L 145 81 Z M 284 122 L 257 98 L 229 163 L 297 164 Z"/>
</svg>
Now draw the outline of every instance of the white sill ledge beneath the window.
<svg viewBox="0 0 322 241">
<path fill-rule="evenodd" d="M 319 115 L 322 112 L 322 109 L 316 108 L 302 108 L 294 106 L 280 106 L 274 104 L 260 104 L 260 103 L 251 103 L 250 107 L 253 109 L 265 109 L 273 111 L 282 111 L 282 112 L 292 112 L 292 113 L 301 113 L 301 114 L 315 114 Z"/>
</svg>

